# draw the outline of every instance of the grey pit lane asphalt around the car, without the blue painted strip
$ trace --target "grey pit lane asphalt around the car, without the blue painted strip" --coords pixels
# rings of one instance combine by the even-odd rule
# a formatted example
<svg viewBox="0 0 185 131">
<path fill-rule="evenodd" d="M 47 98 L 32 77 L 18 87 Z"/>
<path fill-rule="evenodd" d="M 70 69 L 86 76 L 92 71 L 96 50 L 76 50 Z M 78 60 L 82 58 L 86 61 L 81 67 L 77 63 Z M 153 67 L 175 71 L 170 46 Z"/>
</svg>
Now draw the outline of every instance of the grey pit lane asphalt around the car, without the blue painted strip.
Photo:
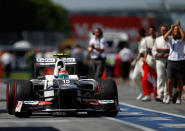
<svg viewBox="0 0 185 131">
<path fill-rule="evenodd" d="M 116 79 L 118 85 L 119 99 L 121 103 L 134 105 L 152 109 L 160 112 L 173 113 L 185 116 L 185 103 L 181 105 L 175 104 L 162 104 L 156 102 L 154 99 L 151 102 L 136 101 L 138 94 L 137 89 L 130 81 L 123 81 Z M 16 118 L 6 113 L 6 87 L 0 83 L 0 131 L 138 131 L 138 130 L 155 130 L 147 126 L 122 121 L 117 118 L 107 118 L 100 116 L 67 116 L 67 117 L 52 117 L 49 115 L 41 114 L 34 115 L 30 118 Z M 126 107 L 124 107 L 126 108 Z M 124 109 L 121 109 L 124 110 Z M 120 112 L 119 114 L 123 114 Z M 128 113 L 128 112 L 127 112 Z M 133 114 L 127 114 L 132 116 Z M 119 118 L 119 115 L 118 115 Z M 174 122 L 175 123 L 175 122 Z"/>
</svg>

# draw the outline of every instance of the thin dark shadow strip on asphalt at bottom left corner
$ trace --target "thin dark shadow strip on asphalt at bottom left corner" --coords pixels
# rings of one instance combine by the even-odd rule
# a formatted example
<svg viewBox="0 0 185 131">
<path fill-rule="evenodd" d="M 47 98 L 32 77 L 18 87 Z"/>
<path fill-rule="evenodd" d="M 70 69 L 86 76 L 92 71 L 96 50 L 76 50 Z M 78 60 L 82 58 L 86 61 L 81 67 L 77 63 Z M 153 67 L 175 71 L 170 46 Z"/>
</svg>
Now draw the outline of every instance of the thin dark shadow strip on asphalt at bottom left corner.
<svg viewBox="0 0 185 131">
<path fill-rule="evenodd" d="M 0 127 L 0 131 L 60 131 L 53 127 Z"/>
</svg>

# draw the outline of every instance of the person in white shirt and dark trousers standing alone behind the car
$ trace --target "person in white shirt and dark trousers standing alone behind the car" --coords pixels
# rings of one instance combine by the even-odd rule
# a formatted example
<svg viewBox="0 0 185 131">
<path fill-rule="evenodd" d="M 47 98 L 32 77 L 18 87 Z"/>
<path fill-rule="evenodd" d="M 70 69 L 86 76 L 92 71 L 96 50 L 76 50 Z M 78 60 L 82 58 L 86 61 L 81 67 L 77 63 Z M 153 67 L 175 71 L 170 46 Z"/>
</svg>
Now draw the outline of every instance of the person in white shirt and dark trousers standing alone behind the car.
<svg viewBox="0 0 185 131">
<path fill-rule="evenodd" d="M 101 78 L 104 72 L 105 66 L 105 45 L 106 42 L 103 39 L 103 31 L 101 28 L 95 28 L 93 36 L 89 41 L 89 53 L 92 60 L 92 68 L 95 78 Z"/>
</svg>

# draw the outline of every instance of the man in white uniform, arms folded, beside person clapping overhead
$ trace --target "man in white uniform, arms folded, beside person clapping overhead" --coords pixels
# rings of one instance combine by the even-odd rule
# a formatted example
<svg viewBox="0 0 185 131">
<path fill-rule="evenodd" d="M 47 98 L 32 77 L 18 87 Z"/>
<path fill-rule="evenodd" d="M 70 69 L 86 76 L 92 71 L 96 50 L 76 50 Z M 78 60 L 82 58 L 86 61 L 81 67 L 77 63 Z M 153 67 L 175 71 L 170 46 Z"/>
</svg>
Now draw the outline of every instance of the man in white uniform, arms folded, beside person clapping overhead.
<svg viewBox="0 0 185 131">
<path fill-rule="evenodd" d="M 167 25 L 160 27 L 161 36 L 157 37 L 152 48 L 152 54 L 156 59 L 156 72 L 157 72 L 157 101 L 165 101 L 167 91 L 167 72 L 166 64 L 169 54 L 169 45 L 164 40 L 164 35 L 167 32 Z M 164 99 L 163 99 L 164 98 Z"/>
</svg>

